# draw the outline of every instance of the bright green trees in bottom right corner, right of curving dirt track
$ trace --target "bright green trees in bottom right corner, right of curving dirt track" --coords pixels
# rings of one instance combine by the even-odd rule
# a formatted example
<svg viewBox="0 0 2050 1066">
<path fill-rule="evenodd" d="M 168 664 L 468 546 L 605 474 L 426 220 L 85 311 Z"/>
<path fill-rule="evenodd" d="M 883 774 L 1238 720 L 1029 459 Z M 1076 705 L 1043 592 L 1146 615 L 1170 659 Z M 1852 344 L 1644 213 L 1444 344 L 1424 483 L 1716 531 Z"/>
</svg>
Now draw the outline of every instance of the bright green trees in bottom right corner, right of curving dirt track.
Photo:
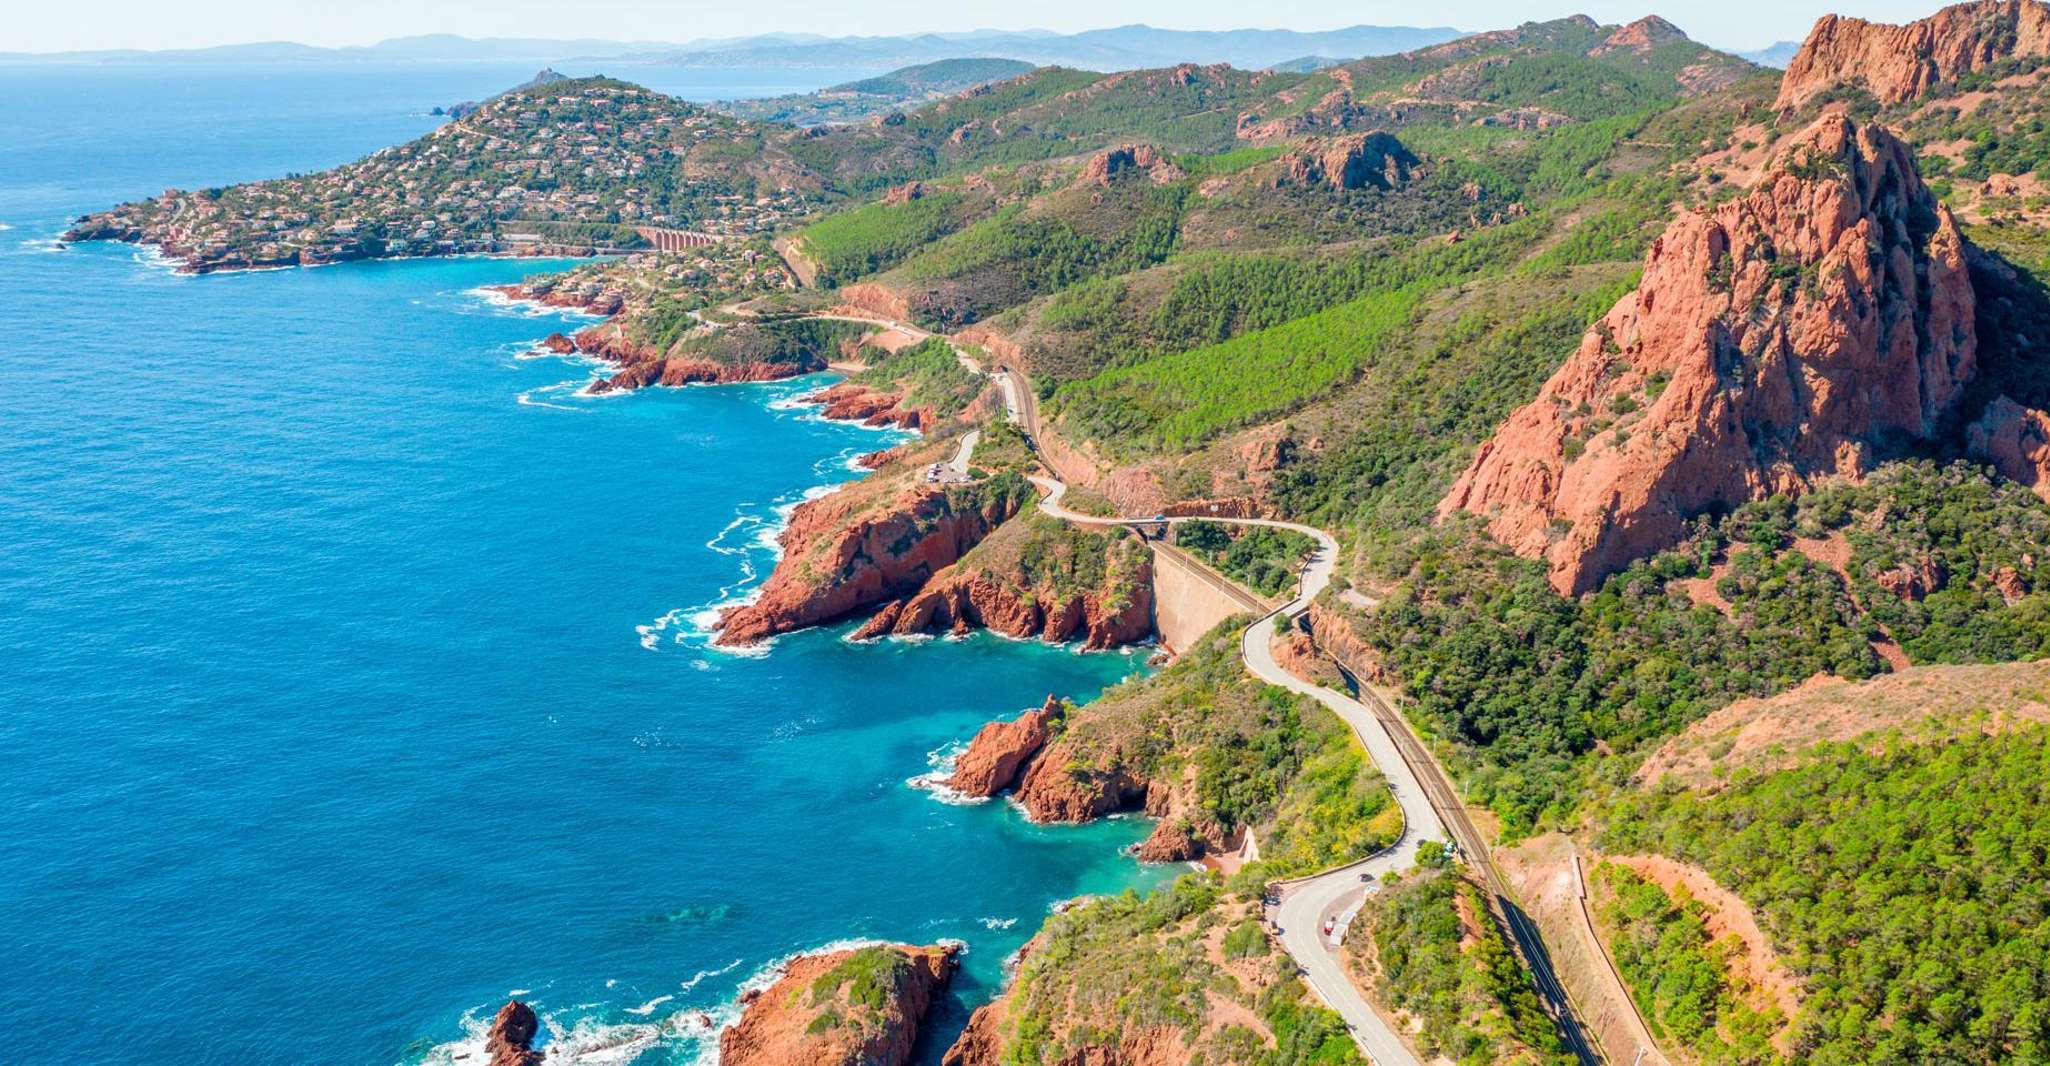
<svg viewBox="0 0 2050 1066">
<path fill-rule="evenodd" d="M 2042 728 L 1831 744 L 1714 795 L 1628 795 L 1601 847 L 1701 865 L 1761 912 L 1802 978 L 1798 1062 L 2050 1062 L 2046 781 Z"/>
</svg>

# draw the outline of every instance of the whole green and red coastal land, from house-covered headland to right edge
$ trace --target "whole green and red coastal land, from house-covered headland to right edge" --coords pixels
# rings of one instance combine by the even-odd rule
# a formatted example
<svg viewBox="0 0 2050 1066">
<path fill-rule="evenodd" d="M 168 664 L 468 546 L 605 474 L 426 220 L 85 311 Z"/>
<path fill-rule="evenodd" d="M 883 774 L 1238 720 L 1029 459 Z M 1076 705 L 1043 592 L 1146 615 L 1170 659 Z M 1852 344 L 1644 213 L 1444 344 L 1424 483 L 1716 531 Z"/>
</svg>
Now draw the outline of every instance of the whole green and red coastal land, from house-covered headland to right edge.
<svg viewBox="0 0 2050 1066">
<path fill-rule="evenodd" d="M 515 291 L 609 316 L 549 340 L 613 365 L 592 392 L 832 363 L 828 416 L 925 433 L 795 508 L 722 644 L 1144 640 L 1146 545 L 1037 512 L 1033 474 L 1095 515 L 1316 525 L 1337 580 L 1287 656 L 1386 693 L 1476 832 L 1529 845 L 1546 935 L 1589 931 L 1568 984 L 1611 980 L 1605 945 L 1689 1066 L 2050 1062 L 2046 10 L 1829 16 L 1783 76 L 1658 16 L 1285 70 L 941 66 L 812 94 L 871 111 L 808 129 L 560 82 L 74 238 L 201 271 L 666 240 Z M 1177 539 L 1261 594 L 1306 549 Z M 1230 875 L 1054 916 L 949 1062 L 1351 1060 L 1250 900 L 1400 808 L 1234 633 L 961 754 L 955 791 L 1146 814 L 1142 859 Z M 1484 855 L 1427 855 L 1351 978 L 1421 1054 L 1556 1060 Z"/>
</svg>

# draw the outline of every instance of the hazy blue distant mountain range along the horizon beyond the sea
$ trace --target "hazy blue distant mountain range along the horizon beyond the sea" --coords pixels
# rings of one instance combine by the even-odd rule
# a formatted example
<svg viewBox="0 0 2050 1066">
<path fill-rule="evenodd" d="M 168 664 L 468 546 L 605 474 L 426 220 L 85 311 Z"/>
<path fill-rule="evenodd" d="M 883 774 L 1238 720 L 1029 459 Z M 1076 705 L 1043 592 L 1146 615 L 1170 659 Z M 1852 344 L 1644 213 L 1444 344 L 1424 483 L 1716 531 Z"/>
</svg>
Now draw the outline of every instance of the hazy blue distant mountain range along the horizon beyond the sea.
<svg viewBox="0 0 2050 1066">
<path fill-rule="evenodd" d="M 896 70 L 941 59 L 1019 59 L 1035 66 L 1132 70 L 1173 64 L 1232 64 L 1265 68 L 1308 55 L 1355 59 L 1388 55 L 1462 33 L 1451 27 L 1347 27 L 1335 31 L 1232 29 L 1181 31 L 1144 25 L 1086 33 L 972 31 L 914 33 L 900 37 L 820 37 L 771 33 L 687 43 L 525 39 L 525 37 L 396 37 L 375 45 L 314 47 L 291 41 L 219 45 L 201 49 L 0 53 L 4 64 L 447 64 L 611 59 L 695 68 L 840 68 Z"/>
</svg>

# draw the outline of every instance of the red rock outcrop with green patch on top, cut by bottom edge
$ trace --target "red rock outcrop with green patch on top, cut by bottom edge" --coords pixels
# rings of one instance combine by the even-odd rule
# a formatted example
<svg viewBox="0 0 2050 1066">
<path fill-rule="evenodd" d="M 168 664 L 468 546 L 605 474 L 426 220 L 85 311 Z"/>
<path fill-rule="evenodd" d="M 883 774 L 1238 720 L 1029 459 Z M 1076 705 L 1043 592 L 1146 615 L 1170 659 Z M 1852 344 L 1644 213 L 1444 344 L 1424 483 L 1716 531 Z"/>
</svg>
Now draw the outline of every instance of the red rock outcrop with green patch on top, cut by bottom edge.
<svg viewBox="0 0 2050 1066">
<path fill-rule="evenodd" d="M 763 992 L 742 998 L 720 1033 L 724 1066 L 904 1066 L 918 1027 L 959 966 L 959 947 L 888 945 L 890 986 L 879 1009 L 853 1002 L 834 970 L 861 951 L 799 955 Z"/>
</svg>

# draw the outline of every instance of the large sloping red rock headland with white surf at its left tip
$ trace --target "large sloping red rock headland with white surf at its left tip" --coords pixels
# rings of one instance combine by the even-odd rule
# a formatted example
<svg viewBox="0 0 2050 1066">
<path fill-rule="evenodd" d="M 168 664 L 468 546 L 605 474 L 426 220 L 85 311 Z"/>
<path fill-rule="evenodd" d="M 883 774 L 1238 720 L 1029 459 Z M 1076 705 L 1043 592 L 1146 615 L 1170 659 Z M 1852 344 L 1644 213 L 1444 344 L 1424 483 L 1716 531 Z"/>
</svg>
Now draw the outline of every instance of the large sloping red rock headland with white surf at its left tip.
<svg viewBox="0 0 2050 1066">
<path fill-rule="evenodd" d="M 849 490 L 799 504 L 761 599 L 720 615 L 717 642 L 754 644 L 902 597 L 988 537 L 1019 500 L 957 506 L 945 490 L 910 488 L 875 512 L 855 508 Z"/>
</svg>

